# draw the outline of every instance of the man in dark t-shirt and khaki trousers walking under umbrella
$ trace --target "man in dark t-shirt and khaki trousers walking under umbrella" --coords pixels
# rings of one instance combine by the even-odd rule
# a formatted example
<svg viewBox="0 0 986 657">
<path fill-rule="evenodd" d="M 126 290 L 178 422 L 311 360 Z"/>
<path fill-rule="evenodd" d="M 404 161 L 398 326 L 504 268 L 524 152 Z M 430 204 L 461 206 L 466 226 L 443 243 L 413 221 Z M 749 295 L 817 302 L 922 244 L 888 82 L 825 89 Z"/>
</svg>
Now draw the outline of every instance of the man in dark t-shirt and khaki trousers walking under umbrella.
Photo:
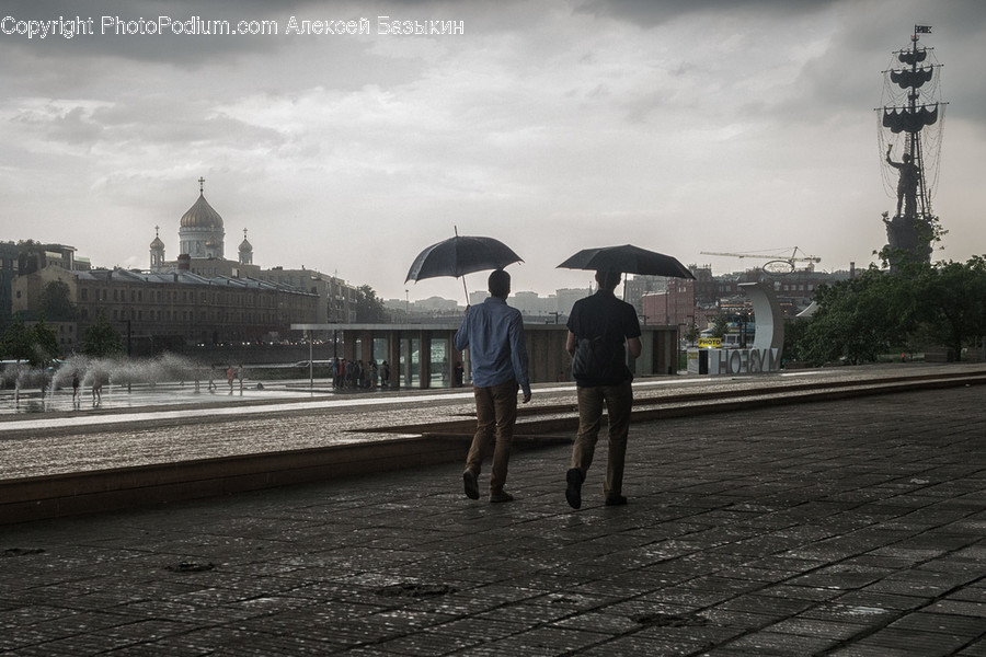
<svg viewBox="0 0 986 657">
<path fill-rule="evenodd" d="M 612 293 L 620 272 L 596 272 L 599 289 L 580 299 L 569 316 L 565 348 L 572 356 L 572 374 L 578 393 L 578 434 L 572 447 L 571 468 L 565 474 L 565 499 L 572 508 L 582 506 L 582 484 L 593 462 L 603 423 L 603 406 L 609 412 L 609 458 L 603 493 L 607 506 L 627 504 L 622 494 L 630 410 L 633 406 L 633 374 L 627 367 L 627 349 L 640 356 L 640 322 L 637 311 Z"/>
</svg>

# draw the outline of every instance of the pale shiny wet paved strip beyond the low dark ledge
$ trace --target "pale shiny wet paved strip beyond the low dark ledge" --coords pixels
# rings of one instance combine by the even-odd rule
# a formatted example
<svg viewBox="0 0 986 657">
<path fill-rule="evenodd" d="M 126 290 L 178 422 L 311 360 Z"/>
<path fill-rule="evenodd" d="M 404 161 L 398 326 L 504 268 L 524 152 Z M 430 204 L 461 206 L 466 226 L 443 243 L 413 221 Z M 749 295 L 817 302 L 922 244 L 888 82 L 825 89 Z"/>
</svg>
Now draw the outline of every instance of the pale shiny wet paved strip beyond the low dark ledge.
<svg viewBox="0 0 986 657">
<path fill-rule="evenodd" d="M 955 376 L 986 376 L 986 367 L 897 364 L 757 377 L 660 377 L 634 381 L 634 412 L 695 414 L 699 406 L 724 400 L 738 400 L 734 404 L 740 406 L 787 403 L 845 385 Z M 442 423 L 471 422 L 474 413 L 466 389 L 333 392 L 324 380 L 267 381 L 262 390 L 248 385 L 232 395 L 208 394 L 204 387 L 196 392 L 188 383 L 114 385 L 98 405 L 74 405 L 71 391 L 59 391 L 35 412 L 23 408 L 36 400 L 15 403 L 11 391 L 0 392 L 5 393 L 0 394 L 0 481 L 374 442 L 417 435 Z M 22 412 L 13 411 L 19 405 Z M 574 410 L 572 383 L 536 385 L 531 403 L 520 406 L 518 431 L 543 433 L 543 426 L 531 425 L 573 418 Z M 574 430 L 562 427 L 565 435 Z M 465 431 L 471 434 L 471 428 Z"/>
</svg>

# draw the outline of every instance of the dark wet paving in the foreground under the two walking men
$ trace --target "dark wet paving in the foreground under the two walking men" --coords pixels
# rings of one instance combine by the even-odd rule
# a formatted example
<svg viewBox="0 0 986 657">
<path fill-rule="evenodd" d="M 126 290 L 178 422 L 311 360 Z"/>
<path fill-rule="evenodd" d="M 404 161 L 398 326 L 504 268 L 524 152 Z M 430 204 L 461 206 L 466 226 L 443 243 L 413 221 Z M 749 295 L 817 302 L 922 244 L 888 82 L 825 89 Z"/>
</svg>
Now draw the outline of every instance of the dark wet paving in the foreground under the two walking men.
<svg viewBox="0 0 986 657">
<path fill-rule="evenodd" d="M 450 464 L 2 527 L 0 653 L 983 656 L 984 390 L 638 422 L 626 507 L 600 441 L 577 511 L 551 447 L 514 456 L 509 504 Z M 469 407 L 442 395 L 369 415 Z M 0 445 L 66 436 L 25 430 Z"/>
</svg>

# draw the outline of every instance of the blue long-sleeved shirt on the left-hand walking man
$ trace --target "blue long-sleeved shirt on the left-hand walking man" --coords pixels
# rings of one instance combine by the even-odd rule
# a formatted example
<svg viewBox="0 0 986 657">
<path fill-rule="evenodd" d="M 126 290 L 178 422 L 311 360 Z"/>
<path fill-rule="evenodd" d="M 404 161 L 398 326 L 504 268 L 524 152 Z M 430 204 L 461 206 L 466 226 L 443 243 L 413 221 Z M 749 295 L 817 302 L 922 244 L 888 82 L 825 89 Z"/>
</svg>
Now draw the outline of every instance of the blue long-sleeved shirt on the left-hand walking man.
<svg viewBox="0 0 986 657">
<path fill-rule="evenodd" d="M 471 306 L 466 311 L 455 344 L 460 351 L 469 349 L 473 385 L 489 388 L 516 380 L 524 394 L 530 394 L 519 310 L 503 299 L 488 297 L 481 306 Z"/>
</svg>

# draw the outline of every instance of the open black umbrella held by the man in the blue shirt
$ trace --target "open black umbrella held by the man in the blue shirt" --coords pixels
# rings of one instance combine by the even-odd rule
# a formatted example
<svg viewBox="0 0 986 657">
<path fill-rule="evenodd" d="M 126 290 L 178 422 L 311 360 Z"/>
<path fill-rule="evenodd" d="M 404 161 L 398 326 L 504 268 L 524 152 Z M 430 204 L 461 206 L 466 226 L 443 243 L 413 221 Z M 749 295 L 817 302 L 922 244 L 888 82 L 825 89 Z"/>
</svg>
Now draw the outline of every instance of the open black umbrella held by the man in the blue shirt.
<svg viewBox="0 0 986 657">
<path fill-rule="evenodd" d="M 458 278 L 473 272 L 503 269 L 509 264 L 523 262 L 519 255 L 500 240 L 459 235 L 457 231 L 456 237 L 432 244 L 419 253 L 411 263 L 404 283 L 439 276 Z M 462 288 L 466 289 L 465 278 Z M 466 290 L 466 301 L 469 301 L 469 290 Z"/>
</svg>

